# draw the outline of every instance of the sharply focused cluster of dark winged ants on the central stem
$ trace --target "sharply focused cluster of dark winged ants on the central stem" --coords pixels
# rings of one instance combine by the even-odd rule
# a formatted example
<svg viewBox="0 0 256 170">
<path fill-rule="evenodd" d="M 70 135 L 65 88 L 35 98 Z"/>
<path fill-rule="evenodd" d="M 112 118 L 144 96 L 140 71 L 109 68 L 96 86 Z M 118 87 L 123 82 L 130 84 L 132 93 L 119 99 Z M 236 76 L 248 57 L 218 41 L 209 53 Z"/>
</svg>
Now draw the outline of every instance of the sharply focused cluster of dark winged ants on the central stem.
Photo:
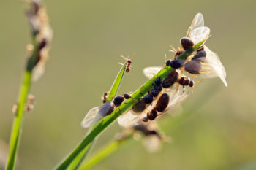
<svg viewBox="0 0 256 170">
<path fill-rule="evenodd" d="M 148 90 L 143 98 L 135 102 L 132 109 L 118 117 L 119 125 L 133 127 L 143 122 L 155 120 L 160 115 L 170 112 L 191 93 L 191 89 L 196 83 L 190 80 L 192 77 L 219 77 L 227 86 L 224 66 L 222 66 L 218 55 L 209 50 L 204 43 L 194 53 L 187 54 L 185 58 L 179 58 L 180 55 L 198 42 L 206 42 L 209 35 L 210 29 L 204 26 L 203 15 L 198 13 L 192 20 L 191 26 L 189 26 L 187 36 L 181 39 L 181 47 L 178 50 L 173 50 L 174 58 L 167 60 L 165 63 L 165 67 L 171 67 L 173 71 L 162 80 L 157 76 L 162 67 L 144 69 L 143 72 L 146 77 L 154 77 L 153 87 Z M 130 60 L 127 60 L 128 68 L 131 63 Z M 129 69 L 127 69 L 127 72 L 129 72 Z M 107 93 L 105 93 L 105 98 L 106 96 Z M 130 98 L 128 94 L 116 96 L 112 101 L 105 102 L 100 107 L 94 107 L 83 120 L 83 127 L 94 125 L 97 122 L 94 120 L 99 120 L 99 117 L 113 112 L 114 107 L 118 107 L 127 98 Z"/>
</svg>

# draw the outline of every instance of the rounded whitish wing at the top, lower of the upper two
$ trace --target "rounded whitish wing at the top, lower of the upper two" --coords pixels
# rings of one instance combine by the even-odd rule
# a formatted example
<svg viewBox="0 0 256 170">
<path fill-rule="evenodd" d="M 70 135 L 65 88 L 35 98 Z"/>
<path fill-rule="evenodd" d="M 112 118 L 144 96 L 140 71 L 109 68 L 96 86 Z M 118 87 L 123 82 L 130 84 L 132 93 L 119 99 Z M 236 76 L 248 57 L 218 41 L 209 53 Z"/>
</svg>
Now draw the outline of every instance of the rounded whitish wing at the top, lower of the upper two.
<svg viewBox="0 0 256 170">
<path fill-rule="evenodd" d="M 197 44 L 198 42 L 208 39 L 209 35 L 210 28 L 203 26 L 190 31 L 188 37 L 189 39 L 192 39 L 192 42 L 194 42 L 194 44 Z"/>
</svg>

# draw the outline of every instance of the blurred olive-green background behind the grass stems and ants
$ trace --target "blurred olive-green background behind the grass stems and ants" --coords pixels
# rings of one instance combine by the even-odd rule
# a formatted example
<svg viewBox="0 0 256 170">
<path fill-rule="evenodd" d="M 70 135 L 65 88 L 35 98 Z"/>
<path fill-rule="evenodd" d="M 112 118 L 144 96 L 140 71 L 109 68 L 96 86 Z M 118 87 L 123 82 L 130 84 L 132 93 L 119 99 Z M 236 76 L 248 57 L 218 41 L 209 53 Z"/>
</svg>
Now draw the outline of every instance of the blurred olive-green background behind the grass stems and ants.
<svg viewBox="0 0 256 170">
<path fill-rule="evenodd" d="M 54 37 L 45 75 L 32 85 L 35 108 L 26 114 L 17 169 L 53 169 L 83 139 L 80 121 L 102 104 L 124 62 L 135 57 L 120 93 L 146 82 L 142 69 L 162 66 L 178 47 L 192 18 L 202 12 L 211 28 L 208 47 L 219 54 L 228 88 L 204 80 L 183 104 L 189 115 L 165 132 L 173 141 L 160 152 L 140 142 L 121 147 L 94 169 L 238 169 L 256 159 L 255 1 L 45 1 Z M 26 61 L 29 26 L 23 1 L 0 1 L 0 154 L 10 139 L 12 105 Z M 182 116 L 182 115 L 181 115 Z M 161 120 L 160 120 L 161 121 Z M 121 128 L 115 123 L 95 150 Z M 1 158 L 1 157 L 0 157 Z M 1 162 L 0 162 L 1 163 Z M 0 166 L 0 169 L 3 169 Z"/>
</svg>

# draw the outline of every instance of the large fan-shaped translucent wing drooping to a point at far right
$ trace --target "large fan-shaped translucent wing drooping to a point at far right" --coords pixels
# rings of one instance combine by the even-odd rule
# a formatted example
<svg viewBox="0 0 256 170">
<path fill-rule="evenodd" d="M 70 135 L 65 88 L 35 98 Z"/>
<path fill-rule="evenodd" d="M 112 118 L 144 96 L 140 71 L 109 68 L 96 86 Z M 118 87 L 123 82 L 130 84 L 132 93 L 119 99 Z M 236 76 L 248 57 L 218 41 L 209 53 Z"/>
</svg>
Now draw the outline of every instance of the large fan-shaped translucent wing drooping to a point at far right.
<svg viewBox="0 0 256 170">
<path fill-rule="evenodd" d="M 202 70 L 200 71 L 199 77 L 201 78 L 213 78 L 219 77 L 227 87 L 226 71 L 217 53 L 212 52 L 208 47 L 204 46 L 206 51 L 206 59 L 201 62 Z"/>
</svg>

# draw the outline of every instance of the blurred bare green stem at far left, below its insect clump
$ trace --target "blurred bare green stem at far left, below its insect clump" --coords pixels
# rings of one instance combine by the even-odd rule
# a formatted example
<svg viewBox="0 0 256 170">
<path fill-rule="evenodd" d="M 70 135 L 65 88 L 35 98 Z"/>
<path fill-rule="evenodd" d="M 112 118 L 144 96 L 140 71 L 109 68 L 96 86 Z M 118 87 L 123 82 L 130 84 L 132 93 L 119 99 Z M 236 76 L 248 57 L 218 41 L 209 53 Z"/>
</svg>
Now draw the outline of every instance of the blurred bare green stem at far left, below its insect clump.
<svg viewBox="0 0 256 170">
<path fill-rule="evenodd" d="M 20 97 L 18 101 L 18 110 L 15 113 L 15 118 L 12 124 L 12 136 L 10 139 L 10 153 L 7 160 L 7 170 L 14 169 L 15 160 L 17 157 L 18 144 L 20 141 L 21 127 L 23 121 L 23 112 L 26 104 L 26 98 L 29 93 L 31 83 L 31 72 L 26 71 L 23 76 L 23 84 L 20 88 Z"/>
</svg>

